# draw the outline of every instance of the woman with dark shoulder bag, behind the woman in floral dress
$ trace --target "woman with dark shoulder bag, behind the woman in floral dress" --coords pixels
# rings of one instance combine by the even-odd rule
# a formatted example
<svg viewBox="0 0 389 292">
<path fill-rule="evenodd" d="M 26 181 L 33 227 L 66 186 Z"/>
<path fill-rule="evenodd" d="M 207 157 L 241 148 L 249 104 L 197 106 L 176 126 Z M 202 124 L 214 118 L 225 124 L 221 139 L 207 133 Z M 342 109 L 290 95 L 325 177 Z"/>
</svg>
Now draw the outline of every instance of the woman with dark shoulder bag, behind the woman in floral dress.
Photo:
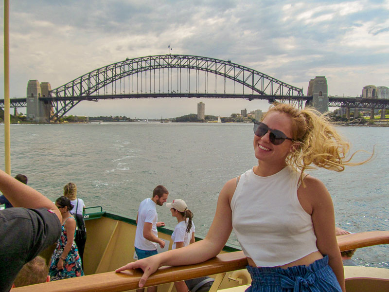
<svg viewBox="0 0 389 292">
<path fill-rule="evenodd" d="M 82 268 L 84 269 L 84 249 L 85 242 L 87 241 L 87 229 L 85 228 L 85 222 L 83 218 L 83 212 L 85 209 L 85 204 L 82 199 L 77 198 L 77 186 L 75 183 L 67 183 L 64 186 L 64 196 L 71 201 L 71 204 L 74 206 L 70 210 L 71 215 L 73 215 L 77 222 L 77 233 L 74 238 L 75 243 L 78 247 L 78 253 L 81 257 Z"/>
</svg>

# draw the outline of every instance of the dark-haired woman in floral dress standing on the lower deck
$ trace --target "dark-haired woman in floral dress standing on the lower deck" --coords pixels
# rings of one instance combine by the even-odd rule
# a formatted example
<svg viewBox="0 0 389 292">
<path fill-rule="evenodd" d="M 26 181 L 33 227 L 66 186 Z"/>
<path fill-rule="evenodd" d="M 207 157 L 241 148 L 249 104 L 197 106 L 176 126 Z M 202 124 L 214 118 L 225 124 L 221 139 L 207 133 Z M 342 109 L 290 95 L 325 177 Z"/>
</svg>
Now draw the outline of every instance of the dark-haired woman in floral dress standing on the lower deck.
<svg viewBox="0 0 389 292">
<path fill-rule="evenodd" d="M 83 276 L 81 258 L 74 242 L 76 221 L 70 214 L 73 205 L 63 196 L 55 201 L 55 205 L 62 215 L 62 233 L 50 260 L 50 281 Z"/>
</svg>

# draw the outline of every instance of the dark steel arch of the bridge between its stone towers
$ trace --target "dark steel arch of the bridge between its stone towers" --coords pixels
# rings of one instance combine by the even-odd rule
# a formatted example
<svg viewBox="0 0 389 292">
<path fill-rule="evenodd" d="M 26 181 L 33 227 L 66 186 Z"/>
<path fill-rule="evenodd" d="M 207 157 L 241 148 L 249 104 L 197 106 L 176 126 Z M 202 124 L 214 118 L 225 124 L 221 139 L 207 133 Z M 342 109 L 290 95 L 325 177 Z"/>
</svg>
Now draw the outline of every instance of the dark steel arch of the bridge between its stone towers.
<svg viewBox="0 0 389 292">
<path fill-rule="evenodd" d="M 216 77 L 221 76 L 222 78 L 224 78 L 224 88 L 223 88 L 224 93 L 226 93 L 226 80 L 232 80 L 234 93 L 235 93 L 235 84 L 240 84 L 242 85 L 243 94 L 248 94 L 248 95 L 249 94 L 282 95 L 282 96 L 302 95 L 302 90 L 297 87 L 284 83 L 276 78 L 261 73 L 257 70 L 253 70 L 248 67 L 236 63 L 232 63 L 230 60 L 224 61 L 220 59 L 195 56 L 195 55 L 152 55 L 152 56 L 138 57 L 133 59 L 126 58 L 124 61 L 120 61 L 117 63 L 107 65 L 105 67 L 98 68 L 74 80 L 71 80 L 70 82 L 58 88 L 51 90 L 49 92 L 49 95 L 52 98 L 52 102 L 54 103 L 56 102 L 57 104 L 55 107 L 56 110 L 54 110 L 51 114 L 51 119 L 57 119 L 63 116 L 66 112 L 71 110 L 71 108 L 73 108 L 81 101 L 80 99 L 81 97 L 83 97 L 83 100 L 97 99 L 96 96 L 101 96 L 100 91 L 103 90 L 104 92 L 107 93 L 106 89 L 108 88 L 109 85 L 113 86 L 115 82 L 119 80 L 124 80 L 124 78 L 127 76 L 128 77 L 133 76 L 132 80 L 134 80 L 134 77 L 137 76 L 138 73 L 142 73 L 142 72 L 146 72 L 146 73 L 150 72 L 149 74 L 150 93 L 152 91 L 151 72 L 154 73 L 154 93 L 156 93 L 155 91 L 156 71 L 159 70 L 159 76 L 160 76 L 161 69 L 162 69 L 162 78 L 164 74 L 163 70 L 165 69 L 168 69 L 168 76 L 169 76 L 169 70 L 171 70 L 172 78 L 173 78 L 173 69 L 177 69 L 177 78 L 178 78 L 178 70 L 181 69 L 189 70 L 189 91 L 190 91 L 190 84 L 191 84 L 190 73 L 191 70 L 195 70 L 195 73 L 197 73 L 197 75 L 198 72 L 200 71 L 205 72 L 205 74 L 208 73 L 214 74 L 215 93 L 217 87 Z M 181 71 L 179 74 L 181 78 Z M 186 78 L 188 78 L 188 76 Z M 197 81 L 196 81 L 195 91 L 199 92 L 199 88 L 197 86 L 198 79 L 196 80 Z M 208 75 L 206 80 L 208 80 Z M 147 75 L 146 75 L 146 82 L 148 82 Z M 206 83 L 207 82 L 208 81 L 206 81 Z M 181 80 L 180 80 L 180 84 L 181 84 Z M 247 89 L 246 93 L 245 93 L 245 88 Z M 120 91 L 122 91 L 122 84 L 120 84 Z M 177 91 L 180 91 L 179 93 L 182 93 L 181 88 L 178 89 L 178 81 L 177 81 Z M 204 93 L 207 93 L 207 87 L 205 87 L 205 91 L 206 92 Z M 147 84 L 146 84 L 146 92 L 147 92 Z M 158 92 L 161 93 L 160 80 L 159 80 Z M 172 80 L 171 88 L 168 87 L 168 92 L 178 93 L 175 90 L 173 90 L 173 80 Z M 188 85 L 186 88 L 186 93 L 188 93 Z M 116 94 L 116 90 L 115 90 L 115 94 Z M 76 97 L 78 98 L 74 99 Z"/>
</svg>

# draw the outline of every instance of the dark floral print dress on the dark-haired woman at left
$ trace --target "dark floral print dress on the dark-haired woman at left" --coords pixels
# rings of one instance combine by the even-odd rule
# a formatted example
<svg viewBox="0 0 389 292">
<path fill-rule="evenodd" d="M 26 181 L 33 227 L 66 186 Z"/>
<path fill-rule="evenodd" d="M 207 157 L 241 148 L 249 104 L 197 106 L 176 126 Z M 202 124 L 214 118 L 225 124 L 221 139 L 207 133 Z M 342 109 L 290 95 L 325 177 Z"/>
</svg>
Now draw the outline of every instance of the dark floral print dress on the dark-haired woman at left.
<svg viewBox="0 0 389 292">
<path fill-rule="evenodd" d="M 55 247 L 53 256 L 50 260 L 50 268 L 49 268 L 50 281 L 80 277 L 84 275 L 84 271 L 82 270 L 81 267 L 81 258 L 78 255 L 77 245 L 75 244 L 74 240 L 73 240 L 73 244 L 71 245 L 71 250 L 64 260 L 63 270 L 57 269 L 57 263 L 59 257 L 62 255 L 65 245 L 68 242 L 68 234 L 65 229 L 65 223 L 68 219 L 66 219 L 65 222 L 62 224 L 61 237 L 59 237 L 58 239 L 57 246 Z M 75 231 L 73 234 L 73 238 L 74 235 L 75 235 Z"/>
</svg>

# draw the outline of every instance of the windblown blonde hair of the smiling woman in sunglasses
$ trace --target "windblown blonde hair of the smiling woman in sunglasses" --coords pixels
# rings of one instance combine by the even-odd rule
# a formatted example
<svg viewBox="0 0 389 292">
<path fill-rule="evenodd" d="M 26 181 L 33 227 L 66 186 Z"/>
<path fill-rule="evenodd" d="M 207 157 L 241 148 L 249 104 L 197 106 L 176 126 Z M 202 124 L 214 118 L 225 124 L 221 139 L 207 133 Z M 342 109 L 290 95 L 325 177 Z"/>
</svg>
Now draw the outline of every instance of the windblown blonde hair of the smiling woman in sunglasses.
<svg viewBox="0 0 389 292">
<path fill-rule="evenodd" d="M 286 163 L 301 170 L 315 168 L 310 166 L 343 171 L 345 166 L 363 164 L 366 161 L 351 163 L 354 152 L 350 158 L 346 155 L 350 150 L 350 144 L 336 132 L 330 118 L 312 108 L 298 110 L 289 104 L 273 104 L 266 114 L 278 111 L 286 114 L 292 120 L 292 139 L 295 146 L 286 158 Z M 265 115 L 266 116 L 266 115 Z M 264 116 L 264 118 L 265 118 Z M 360 150 L 359 150 L 360 151 Z"/>
</svg>

